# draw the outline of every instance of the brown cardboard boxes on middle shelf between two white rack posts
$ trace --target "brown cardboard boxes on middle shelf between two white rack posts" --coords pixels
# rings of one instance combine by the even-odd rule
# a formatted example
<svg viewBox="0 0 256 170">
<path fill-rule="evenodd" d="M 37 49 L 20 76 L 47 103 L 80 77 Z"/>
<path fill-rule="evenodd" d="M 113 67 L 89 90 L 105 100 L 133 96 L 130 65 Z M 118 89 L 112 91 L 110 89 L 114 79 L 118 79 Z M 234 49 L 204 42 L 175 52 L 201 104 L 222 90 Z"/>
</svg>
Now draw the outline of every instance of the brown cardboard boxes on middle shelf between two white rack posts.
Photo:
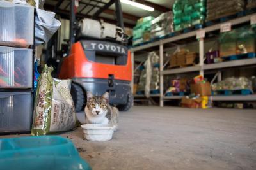
<svg viewBox="0 0 256 170">
<path fill-rule="evenodd" d="M 181 49 L 179 52 L 175 52 L 171 55 L 170 68 L 195 65 L 198 56 L 199 55 L 196 52 L 189 52 L 189 50 Z"/>
</svg>

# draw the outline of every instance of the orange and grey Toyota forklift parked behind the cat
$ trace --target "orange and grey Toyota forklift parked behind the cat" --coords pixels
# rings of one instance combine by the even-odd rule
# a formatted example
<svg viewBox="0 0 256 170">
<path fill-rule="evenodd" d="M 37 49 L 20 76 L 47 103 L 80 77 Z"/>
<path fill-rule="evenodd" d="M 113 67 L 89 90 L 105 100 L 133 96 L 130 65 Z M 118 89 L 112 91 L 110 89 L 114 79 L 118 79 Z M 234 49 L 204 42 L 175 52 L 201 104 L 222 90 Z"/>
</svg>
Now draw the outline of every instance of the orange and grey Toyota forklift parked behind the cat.
<svg viewBox="0 0 256 170">
<path fill-rule="evenodd" d="M 117 24 L 96 20 L 115 3 Z M 119 0 L 110 0 L 92 16 L 76 20 L 75 0 L 70 1 L 70 39 L 68 55 L 63 57 L 58 78 L 71 79 L 76 111 L 86 106 L 86 91 L 101 96 L 109 92 L 109 104 L 127 111 L 133 103 L 131 92 L 131 52 L 124 34 Z"/>
</svg>

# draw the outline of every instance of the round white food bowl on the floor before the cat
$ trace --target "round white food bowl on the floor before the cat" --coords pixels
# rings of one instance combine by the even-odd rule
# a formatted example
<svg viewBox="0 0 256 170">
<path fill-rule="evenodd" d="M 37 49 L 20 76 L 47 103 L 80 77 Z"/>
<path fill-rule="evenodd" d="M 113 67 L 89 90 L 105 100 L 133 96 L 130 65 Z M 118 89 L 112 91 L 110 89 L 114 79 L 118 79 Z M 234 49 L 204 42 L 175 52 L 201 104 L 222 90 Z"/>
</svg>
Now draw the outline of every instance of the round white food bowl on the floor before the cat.
<svg viewBox="0 0 256 170">
<path fill-rule="evenodd" d="M 84 138 L 88 141 L 109 141 L 115 129 L 115 125 L 84 124 L 81 125 Z"/>
</svg>

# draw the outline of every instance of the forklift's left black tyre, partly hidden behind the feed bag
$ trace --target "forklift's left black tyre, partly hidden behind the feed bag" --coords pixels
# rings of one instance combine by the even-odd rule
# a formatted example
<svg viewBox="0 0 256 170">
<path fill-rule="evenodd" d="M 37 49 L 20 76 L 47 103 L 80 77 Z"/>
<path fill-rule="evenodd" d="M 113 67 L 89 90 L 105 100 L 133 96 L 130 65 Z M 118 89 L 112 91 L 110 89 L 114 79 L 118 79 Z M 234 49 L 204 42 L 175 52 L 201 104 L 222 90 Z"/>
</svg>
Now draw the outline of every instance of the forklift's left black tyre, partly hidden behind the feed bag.
<svg viewBox="0 0 256 170">
<path fill-rule="evenodd" d="M 83 110 L 84 92 L 83 89 L 74 83 L 71 84 L 71 96 L 75 104 L 76 112 Z"/>
</svg>

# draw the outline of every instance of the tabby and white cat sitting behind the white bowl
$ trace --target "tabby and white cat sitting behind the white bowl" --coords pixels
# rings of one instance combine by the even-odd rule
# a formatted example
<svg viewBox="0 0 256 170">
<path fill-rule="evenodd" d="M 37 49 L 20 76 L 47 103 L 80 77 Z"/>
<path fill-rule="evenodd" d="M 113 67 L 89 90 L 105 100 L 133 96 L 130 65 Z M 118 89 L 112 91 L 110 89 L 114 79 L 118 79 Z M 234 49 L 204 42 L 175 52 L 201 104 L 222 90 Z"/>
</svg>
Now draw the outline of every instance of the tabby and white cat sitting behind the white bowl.
<svg viewBox="0 0 256 170">
<path fill-rule="evenodd" d="M 87 104 L 84 108 L 86 124 L 111 124 L 117 127 L 119 111 L 109 105 L 109 93 L 102 96 L 93 96 L 87 92 Z"/>
</svg>

